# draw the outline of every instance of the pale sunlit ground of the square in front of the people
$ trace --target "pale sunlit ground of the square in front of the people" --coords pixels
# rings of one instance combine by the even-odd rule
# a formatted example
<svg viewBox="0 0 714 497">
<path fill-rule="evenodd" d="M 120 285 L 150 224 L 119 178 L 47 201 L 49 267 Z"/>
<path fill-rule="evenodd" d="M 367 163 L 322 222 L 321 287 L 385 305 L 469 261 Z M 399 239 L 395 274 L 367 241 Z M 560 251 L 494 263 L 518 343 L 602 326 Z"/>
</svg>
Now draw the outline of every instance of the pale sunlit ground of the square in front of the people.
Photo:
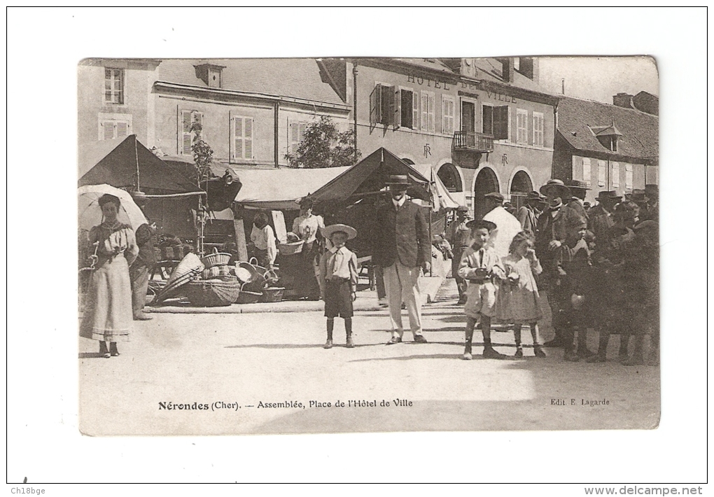
<svg viewBox="0 0 714 497">
<path fill-rule="evenodd" d="M 607 363 L 568 363 L 560 349 L 539 359 L 532 348 L 523 359 L 462 361 L 465 317 L 455 303 L 456 288 L 447 280 L 436 302 L 424 307 L 429 343 L 413 343 L 406 333 L 405 343 L 384 345 L 390 333 L 381 309 L 356 313 L 353 349 L 339 346 L 344 335 L 337 319 L 338 346 L 331 350 L 321 348 L 319 311 L 156 313 L 153 321 L 136 322 L 119 357 L 101 358 L 96 341 L 79 339 L 80 426 L 91 435 L 188 435 L 658 424 L 660 370 L 620 366 L 617 337 Z M 493 336 L 499 351 L 513 355 L 512 332 Z M 548 320 L 543 336 L 553 336 Z M 475 338 L 481 342 L 480 333 Z M 593 349 L 596 339 L 590 337 Z M 583 400 L 606 403 L 585 406 Z M 331 407 L 310 407 L 310 401 Z M 336 407 L 338 401 L 346 406 Z M 261 402 L 293 407 L 258 407 Z M 208 409 L 164 409 L 160 403 Z"/>
</svg>

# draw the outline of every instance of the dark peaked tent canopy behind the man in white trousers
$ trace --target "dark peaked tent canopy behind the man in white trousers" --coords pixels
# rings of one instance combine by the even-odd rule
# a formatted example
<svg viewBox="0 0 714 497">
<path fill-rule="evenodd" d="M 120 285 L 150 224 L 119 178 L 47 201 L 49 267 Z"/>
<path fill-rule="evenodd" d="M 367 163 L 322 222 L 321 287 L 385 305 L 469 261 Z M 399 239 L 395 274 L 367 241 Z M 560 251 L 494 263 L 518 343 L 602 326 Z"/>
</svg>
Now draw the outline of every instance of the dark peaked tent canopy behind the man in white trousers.
<svg viewBox="0 0 714 497">
<path fill-rule="evenodd" d="M 425 201 L 430 200 L 427 187 L 429 180 L 384 148 L 373 151 L 365 159 L 314 191 L 311 199 L 315 204 L 348 204 L 363 196 L 381 191 L 392 174 L 408 176 L 411 184 L 407 191 L 409 196 Z"/>
</svg>

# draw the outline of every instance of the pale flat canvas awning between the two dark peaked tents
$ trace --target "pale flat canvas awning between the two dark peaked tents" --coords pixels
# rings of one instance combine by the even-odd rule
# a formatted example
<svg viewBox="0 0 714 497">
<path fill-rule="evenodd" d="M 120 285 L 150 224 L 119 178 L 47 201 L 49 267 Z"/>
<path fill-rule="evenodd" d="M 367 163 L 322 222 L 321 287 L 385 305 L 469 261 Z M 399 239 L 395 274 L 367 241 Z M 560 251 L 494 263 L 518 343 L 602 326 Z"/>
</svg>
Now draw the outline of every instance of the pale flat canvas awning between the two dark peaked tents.
<svg viewBox="0 0 714 497">
<path fill-rule="evenodd" d="M 236 202 L 257 209 L 297 210 L 296 200 L 347 171 L 349 167 L 323 169 L 240 169 L 243 188 Z"/>
</svg>

